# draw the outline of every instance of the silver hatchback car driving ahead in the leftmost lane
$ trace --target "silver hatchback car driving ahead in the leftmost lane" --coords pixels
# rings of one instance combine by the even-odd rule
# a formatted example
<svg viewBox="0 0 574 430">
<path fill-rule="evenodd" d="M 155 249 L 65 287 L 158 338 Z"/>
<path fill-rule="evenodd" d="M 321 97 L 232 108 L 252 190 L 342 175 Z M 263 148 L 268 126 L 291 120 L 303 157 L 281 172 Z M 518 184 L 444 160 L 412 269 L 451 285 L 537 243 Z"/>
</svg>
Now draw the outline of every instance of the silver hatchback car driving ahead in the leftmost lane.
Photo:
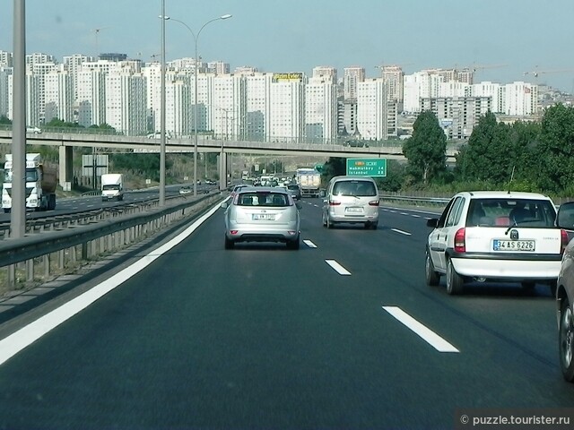
<svg viewBox="0 0 574 430">
<path fill-rule="evenodd" d="M 238 242 L 283 242 L 300 247 L 301 205 L 277 187 L 245 187 L 222 202 L 225 209 L 225 249 Z"/>
</svg>

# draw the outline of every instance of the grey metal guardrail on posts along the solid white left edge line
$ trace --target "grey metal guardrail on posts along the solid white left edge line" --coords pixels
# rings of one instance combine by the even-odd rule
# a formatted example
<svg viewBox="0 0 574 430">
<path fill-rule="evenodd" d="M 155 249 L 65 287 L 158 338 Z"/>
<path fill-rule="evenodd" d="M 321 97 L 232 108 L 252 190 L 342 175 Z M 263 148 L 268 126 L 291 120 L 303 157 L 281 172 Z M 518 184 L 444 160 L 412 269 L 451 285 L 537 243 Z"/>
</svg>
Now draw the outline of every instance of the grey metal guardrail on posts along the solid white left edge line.
<svg viewBox="0 0 574 430">
<path fill-rule="evenodd" d="M 4 268 L 0 270 L 0 292 L 16 288 L 17 280 L 23 280 L 22 287 L 44 282 L 54 273 L 65 273 L 134 244 L 222 200 L 222 195 L 210 193 L 182 200 L 113 219 L 0 241 L 0 268 Z"/>
</svg>

